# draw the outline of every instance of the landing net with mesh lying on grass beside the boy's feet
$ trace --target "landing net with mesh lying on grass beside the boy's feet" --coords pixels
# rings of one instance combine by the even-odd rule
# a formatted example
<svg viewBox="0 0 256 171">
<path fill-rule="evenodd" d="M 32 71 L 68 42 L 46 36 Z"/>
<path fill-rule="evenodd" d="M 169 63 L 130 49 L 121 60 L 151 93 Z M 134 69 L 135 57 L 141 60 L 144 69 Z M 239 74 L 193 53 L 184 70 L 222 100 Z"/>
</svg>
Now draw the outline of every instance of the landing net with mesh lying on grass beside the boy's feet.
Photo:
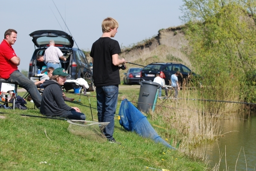
<svg viewBox="0 0 256 171">
<path fill-rule="evenodd" d="M 83 120 L 67 120 L 70 123 L 67 128 L 71 133 L 79 135 L 90 141 L 106 142 L 107 138 L 103 129 L 109 122 L 93 122 Z"/>
</svg>

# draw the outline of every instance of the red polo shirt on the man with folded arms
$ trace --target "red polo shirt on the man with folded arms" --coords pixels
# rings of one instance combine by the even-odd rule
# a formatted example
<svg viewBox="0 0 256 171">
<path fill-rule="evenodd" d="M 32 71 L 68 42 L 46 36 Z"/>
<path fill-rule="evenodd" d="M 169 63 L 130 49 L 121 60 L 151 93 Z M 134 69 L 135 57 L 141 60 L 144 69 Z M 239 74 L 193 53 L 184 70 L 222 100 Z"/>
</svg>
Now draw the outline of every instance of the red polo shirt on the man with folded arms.
<svg viewBox="0 0 256 171">
<path fill-rule="evenodd" d="M 12 57 L 17 56 L 12 46 L 3 40 L 0 44 L 0 78 L 8 79 L 12 72 L 18 67 L 10 61 Z"/>
</svg>

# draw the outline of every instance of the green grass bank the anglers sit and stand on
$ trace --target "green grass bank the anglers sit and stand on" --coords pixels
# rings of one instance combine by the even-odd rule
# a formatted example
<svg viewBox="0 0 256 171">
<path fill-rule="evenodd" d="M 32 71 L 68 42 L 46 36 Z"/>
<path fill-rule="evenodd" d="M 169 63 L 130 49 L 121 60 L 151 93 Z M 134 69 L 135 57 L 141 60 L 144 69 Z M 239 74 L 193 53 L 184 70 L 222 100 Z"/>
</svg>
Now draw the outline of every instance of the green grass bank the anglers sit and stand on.
<svg viewBox="0 0 256 171">
<path fill-rule="evenodd" d="M 120 86 L 121 87 L 121 86 Z M 131 86 L 132 87 L 132 86 Z M 136 101 L 139 89 L 119 90 L 119 99 Z M 23 93 L 19 94 L 20 96 Z M 95 92 L 91 92 L 95 96 Z M 78 95 L 67 94 L 79 99 Z M 118 101 L 118 107 L 121 101 Z M 91 119 L 89 99 L 81 96 L 77 106 Z M 93 119 L 96 121 L 96 98 L 90 97 L 93 107 Z M 70 133 L 69 123 L 63 120 L 23 117 L 20 114 L 41 116 L 34 110 L 34 104 L 28 102 L 28 110 L 0 109 L 0 168 L 2 171 L 70 171 L 70 170 L 111 170 L 135 171 L 148 170 L 145 166 L 172 171 L 203 171 L 207 165 L 200 159 L 181 151 L 173 151 L 163 145 L 155 144 L 136 133 L 121 128 L 115 117 L 114 138 L 122 145 L 108 142 L 96 143 Z M 118 113 L 118 109 L 117 112 Z M 156 130 L 161 128 L 156 128 Z M 164 133 L 160 134 L 166 139 Z"/>
</svg>

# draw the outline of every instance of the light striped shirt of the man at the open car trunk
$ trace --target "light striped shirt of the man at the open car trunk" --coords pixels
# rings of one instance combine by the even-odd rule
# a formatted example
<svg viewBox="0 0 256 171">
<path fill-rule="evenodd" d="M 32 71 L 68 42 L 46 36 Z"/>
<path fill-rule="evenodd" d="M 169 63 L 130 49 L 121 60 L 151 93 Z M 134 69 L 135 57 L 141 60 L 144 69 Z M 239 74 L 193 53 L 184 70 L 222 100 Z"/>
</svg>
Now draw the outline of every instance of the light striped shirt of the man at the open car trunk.
<svg viewBox="0 0 256 171">
<path fill-rule="evenodd" d="M 55 46 L 49 46 L 44 52 L 44 59 L 47 62 L 59 63 L 59 58 L 63 56 L 61 49 Z"/>
</svg>

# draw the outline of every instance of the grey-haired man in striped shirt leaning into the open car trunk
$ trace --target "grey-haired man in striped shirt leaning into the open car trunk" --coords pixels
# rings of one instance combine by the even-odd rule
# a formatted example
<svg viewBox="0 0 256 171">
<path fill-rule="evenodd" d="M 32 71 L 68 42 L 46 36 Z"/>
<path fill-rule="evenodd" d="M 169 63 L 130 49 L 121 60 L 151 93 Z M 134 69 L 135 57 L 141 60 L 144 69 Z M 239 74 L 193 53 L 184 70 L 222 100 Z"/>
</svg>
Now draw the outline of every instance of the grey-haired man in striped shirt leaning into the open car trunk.
<svg viewBox="0 0 256 171">
<path fill-rule="evenodd" d="M 62 59 L 63 61 L 67 60 L 67 58 L 65 58 L 63 53 L 61 52 L 61 49 L 55 47 L 54 40 L 50 40 L 49 47 L 44 52 L 44 60 L 46 62 L 47 68 L 61 68 L 61 63 L 59 59 Z"/>
</svg>

